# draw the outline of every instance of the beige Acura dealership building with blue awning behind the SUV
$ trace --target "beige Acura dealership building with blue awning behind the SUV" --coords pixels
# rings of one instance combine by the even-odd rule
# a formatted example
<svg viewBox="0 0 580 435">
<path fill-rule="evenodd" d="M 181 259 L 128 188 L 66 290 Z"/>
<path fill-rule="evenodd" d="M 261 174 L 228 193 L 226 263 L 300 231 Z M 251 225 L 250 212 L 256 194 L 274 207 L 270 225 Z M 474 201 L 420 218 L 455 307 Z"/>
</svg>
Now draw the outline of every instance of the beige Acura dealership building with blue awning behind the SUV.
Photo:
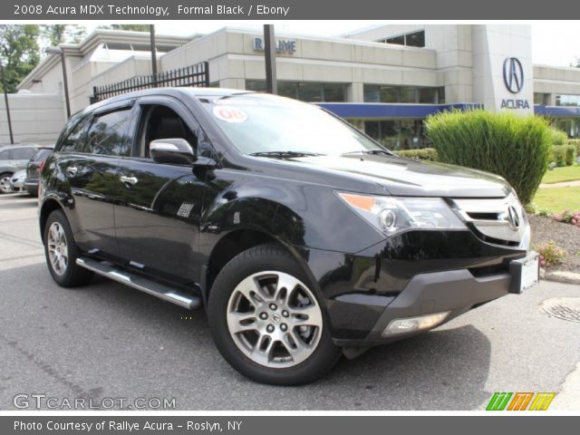
<svg viewBox="0 0 580 435">
<path fill-rule="evenodd" d="M 260 32 L 158 35 L 156 47 L 160 73 L 202 64 L 210 86 L 266 90 Z M 63 56 L 46 56 L 20 94 L 61 95 L 64 111 L 62 61 L 73 112 L 95 87 L 151 74 L 147 33 L 97 30 L 60 48 Z M 580 135 L 580 69 L 532 63 L 529 25 L 390 24 L 336 38 L 277 33 L 276 72 L 278 93 L 323 104 L 392 149 L 429 145 L 423 121 L 452 107 L 536 113 Z M 0 129 L 4 135 L 5 124 Z"/>
</svg>

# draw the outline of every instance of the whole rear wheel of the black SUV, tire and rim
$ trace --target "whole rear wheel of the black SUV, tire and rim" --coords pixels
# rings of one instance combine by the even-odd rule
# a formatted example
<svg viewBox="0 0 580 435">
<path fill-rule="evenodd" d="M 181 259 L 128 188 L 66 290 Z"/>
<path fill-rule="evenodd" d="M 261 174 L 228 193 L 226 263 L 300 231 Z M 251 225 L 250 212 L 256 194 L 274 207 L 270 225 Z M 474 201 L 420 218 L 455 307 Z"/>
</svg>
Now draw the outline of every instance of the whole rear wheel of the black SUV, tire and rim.
<svg viewBox="0 0 580 435">
<path fill-rule="evenodd" d="M 92 272 L 76 264 L 81 250 L 74 243 L 73 231 L 61 210 L 54 210 L 46 219 L 43 242 L 46 266 L 56 284 L 76 287 L 91 281 Z"/>
</svg>

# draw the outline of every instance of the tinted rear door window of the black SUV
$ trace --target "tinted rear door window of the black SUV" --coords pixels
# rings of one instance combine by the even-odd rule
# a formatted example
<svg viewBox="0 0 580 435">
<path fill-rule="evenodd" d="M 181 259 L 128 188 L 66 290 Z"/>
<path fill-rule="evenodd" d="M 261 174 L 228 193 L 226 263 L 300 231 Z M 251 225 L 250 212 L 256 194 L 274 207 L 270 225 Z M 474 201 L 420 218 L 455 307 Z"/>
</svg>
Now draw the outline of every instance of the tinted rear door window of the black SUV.
<svg viewBox="0 0 580 435">
<path fill-rule="evenodd" d="M 108 156 L 129 155 L 127 131 L 131 110 L 111 111 L 93 119 L 87 136 L 86 152 Z"/>
</svg>

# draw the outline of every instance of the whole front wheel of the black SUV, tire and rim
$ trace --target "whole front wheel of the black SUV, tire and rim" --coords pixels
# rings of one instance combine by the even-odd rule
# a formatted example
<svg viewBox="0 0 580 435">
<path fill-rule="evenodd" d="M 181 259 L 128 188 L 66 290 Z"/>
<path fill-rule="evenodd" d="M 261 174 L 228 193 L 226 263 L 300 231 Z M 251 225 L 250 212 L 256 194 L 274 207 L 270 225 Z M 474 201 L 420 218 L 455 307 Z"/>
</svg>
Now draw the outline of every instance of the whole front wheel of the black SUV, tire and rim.
<svg viewBox="0 0 580 435">
<path fill-rule="evenodd" d="M 219 272 L 208 297 L 208 321 L 226 361 L 257 382 L 313 382 L 341 355 L 314 285 L 275 245 L 248 249 Z"/>
</svg>

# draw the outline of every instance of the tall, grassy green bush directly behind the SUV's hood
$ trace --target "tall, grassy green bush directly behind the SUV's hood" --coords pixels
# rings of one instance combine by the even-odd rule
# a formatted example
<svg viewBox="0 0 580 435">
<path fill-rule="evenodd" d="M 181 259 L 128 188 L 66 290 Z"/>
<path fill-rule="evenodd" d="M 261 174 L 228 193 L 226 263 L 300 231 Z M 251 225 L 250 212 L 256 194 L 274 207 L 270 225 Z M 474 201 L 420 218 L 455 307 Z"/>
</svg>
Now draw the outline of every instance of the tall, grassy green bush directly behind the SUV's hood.
<svg viewBox="0 0 580 435">
<path fill-rule="evenodd" d="M 534 197 L 552 148 L 545 119 L 509 112 L 445 111 L 431 115 L 426 125 L 441 161 L 504 177 L 523 204 Z"/>
</svg>

